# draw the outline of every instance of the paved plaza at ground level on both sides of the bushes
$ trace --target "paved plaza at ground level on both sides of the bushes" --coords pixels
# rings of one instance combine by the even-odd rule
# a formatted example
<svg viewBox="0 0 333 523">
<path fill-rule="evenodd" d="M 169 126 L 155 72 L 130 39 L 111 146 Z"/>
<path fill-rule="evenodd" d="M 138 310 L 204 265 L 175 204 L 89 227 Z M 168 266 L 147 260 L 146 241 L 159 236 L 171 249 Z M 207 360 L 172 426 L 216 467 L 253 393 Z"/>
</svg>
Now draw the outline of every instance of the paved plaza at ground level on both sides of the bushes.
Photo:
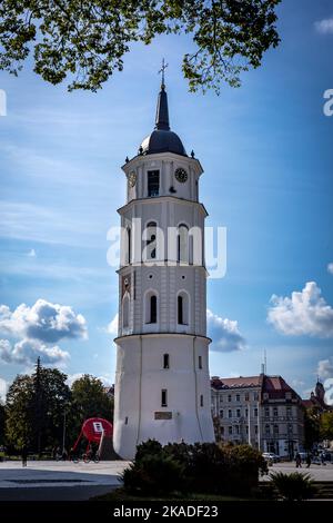
<svg viewBox="0 0 333 523">
<path fill-rule="evenodd" d="M 129 462 L 112 461 L 100 463 L 71 462 L 21 462 L 0 463 L 0 501 L 73 501 L 89 500 L 119 486 L 119 474 Z M 296 471 L 294 463 L 278 463 L 270 472 L 291 473 Z M 333 464 L 312 465 L 297 468 L 310 472 L 313 480 L 333 481 Z M 262 480 L 268 480 L 263 476 Z"/>
</svg>

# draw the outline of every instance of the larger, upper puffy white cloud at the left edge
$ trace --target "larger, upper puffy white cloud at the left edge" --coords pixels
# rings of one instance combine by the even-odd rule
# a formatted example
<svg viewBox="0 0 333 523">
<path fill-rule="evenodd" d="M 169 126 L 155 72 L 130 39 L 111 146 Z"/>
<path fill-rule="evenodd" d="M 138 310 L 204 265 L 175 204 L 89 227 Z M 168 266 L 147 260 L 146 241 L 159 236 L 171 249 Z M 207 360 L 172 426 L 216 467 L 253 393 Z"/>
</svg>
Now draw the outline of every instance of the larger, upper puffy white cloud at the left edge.
<svg viewBox="0 0 333 523">
<path fill-rule="evenodd" d="M 21 304 L 13 312 L 1 305 L 0 332 L 13 337 L 57 343 L 63 338 L 87 338 L 87 323 L 68 305 L 38 299 L 32 307 Z"/>
</svg>

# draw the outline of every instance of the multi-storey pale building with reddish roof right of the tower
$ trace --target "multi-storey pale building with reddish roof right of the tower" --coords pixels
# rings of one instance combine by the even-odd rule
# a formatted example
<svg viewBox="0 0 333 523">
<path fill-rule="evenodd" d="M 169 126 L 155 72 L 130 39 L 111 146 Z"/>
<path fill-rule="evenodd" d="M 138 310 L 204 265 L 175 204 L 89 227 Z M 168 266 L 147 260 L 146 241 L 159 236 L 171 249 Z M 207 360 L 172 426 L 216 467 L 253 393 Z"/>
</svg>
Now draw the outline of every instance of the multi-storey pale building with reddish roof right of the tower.
<svg viewBox="0 0 333 523">
<path fill-rule="evenodd" d="M 304 441 L 304 407 L 282 376 L 211 378 L 216 440 L 292 457 Z"/>
</svg>

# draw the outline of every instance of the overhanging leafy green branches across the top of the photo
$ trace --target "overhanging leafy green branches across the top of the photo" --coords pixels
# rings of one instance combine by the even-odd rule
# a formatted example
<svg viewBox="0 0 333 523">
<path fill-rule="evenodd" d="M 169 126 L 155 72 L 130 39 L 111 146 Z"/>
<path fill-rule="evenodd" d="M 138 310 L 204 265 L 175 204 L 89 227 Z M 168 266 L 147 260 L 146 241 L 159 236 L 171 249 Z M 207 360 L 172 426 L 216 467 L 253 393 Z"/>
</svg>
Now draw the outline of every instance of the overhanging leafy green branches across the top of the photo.
<svg viewBox="0 0 333 523">
<path fill-rule="evenodd" d="M 133 42 L 159 34 L 192 37 L 182 70 L 191 91 L 240 86 L 240 73 L 261 65 L 279 45 L 275 7 L 281 0 L 2 0 L 0 69 L 17 75 L 33 51 L 34 71 L 69 90 L 95 91 Z"/>
</svg>

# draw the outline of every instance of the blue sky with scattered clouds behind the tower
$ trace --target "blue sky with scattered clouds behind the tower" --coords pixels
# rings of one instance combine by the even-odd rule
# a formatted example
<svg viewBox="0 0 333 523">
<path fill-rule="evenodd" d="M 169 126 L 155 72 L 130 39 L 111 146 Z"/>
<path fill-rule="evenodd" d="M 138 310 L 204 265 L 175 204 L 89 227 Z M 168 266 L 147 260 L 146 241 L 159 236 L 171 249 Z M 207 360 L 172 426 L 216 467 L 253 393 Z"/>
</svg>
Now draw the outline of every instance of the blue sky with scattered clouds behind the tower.
<svg viewBox="0 0 333 523">
<path fill-rule="evenodd" d="M 1 72 L 2 393 L 37 354 L 71 377 L 113 383 L 118 280 L 107 231 L 124 201 L 120 166 L 153 128 L 162 57 L 172 129 L 205 171 L 208 225 L 228 228 L 226 275 L 208 284 L 211 375 L 256 374 L 265 349 L 268 373 L 301 394 L 317 372 L 333 377 L 333 117 L 323 114 L 333 6 L 284 1 L 279 17 L 280 47 L 220 97 L 188 92 L 185 37 L 134 46 L 98 93 L 47 85 L 31 63 L 18 78 Z M 52 310 L 56 334 L 33 337 Z"/>
</svg>

